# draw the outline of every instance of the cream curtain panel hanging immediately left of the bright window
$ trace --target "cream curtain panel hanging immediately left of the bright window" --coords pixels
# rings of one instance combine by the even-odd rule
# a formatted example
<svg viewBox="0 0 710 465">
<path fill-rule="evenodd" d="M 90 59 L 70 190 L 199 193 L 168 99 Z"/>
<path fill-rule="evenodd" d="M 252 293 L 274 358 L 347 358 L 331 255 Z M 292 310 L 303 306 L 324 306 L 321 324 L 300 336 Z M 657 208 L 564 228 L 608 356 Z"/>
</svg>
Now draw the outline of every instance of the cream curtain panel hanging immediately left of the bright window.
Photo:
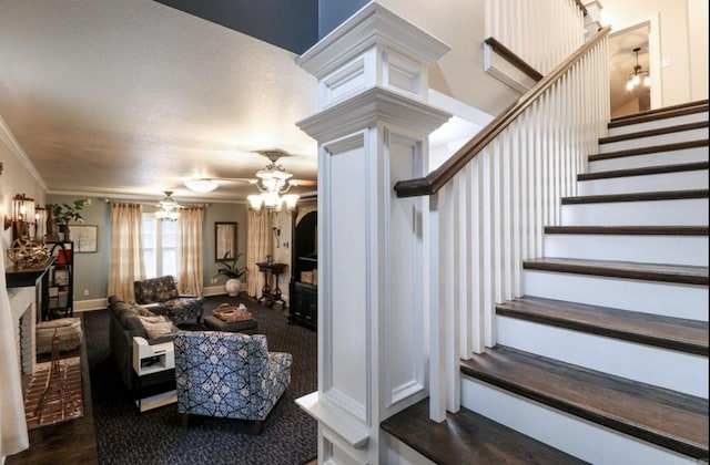
<svg viewBox="0 0 710 465">
<path fill-rule="evenodd" d="M 143 279 L 143 217 L 139 204 L 111 205 L 109 296 L 135 300 L 133 281 Z"/>
</svg>

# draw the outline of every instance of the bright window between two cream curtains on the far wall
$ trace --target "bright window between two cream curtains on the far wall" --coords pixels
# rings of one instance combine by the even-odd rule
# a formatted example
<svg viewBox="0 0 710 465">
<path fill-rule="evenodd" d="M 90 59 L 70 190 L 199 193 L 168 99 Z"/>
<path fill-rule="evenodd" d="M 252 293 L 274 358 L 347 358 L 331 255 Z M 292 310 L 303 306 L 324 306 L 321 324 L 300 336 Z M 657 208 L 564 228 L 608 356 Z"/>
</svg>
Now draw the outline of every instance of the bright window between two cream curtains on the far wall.
<svg viewBox="0 0 710 465">
<path fill-rule="evenodd" d="M 145 277 L 172 275 L 178 280 L 178 221 L 159 221 L 143 214 Z"/>
</svg>

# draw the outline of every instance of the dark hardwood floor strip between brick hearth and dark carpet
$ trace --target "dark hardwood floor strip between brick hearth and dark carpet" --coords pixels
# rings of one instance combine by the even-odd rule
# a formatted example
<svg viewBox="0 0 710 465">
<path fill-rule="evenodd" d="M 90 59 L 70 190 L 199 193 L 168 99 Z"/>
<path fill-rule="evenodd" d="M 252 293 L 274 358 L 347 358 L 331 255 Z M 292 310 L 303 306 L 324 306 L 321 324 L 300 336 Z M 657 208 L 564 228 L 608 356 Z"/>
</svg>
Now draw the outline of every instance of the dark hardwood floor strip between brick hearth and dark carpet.
<svg viewBox="0 0 710 465">
<path fill-rule="evenodd" d="M 79 351 L 63 353 L 62 356 L 81 355 L 81 382 L 83 394 L 84 416 L 54 425 L 41 426 L 30 431 L 30 447 L 6 458 L 7 465 L 12 464 L 57 464 L 61 463 L 93 465 L 99 463 L 99 451 L 93 423 L 93 407 L 91 404 L 91 379 L 89 378 L 89 362 L 87 343 L 82 342 Z M 45 361 L 47 358 L 38 361 Z"/>
</svg>

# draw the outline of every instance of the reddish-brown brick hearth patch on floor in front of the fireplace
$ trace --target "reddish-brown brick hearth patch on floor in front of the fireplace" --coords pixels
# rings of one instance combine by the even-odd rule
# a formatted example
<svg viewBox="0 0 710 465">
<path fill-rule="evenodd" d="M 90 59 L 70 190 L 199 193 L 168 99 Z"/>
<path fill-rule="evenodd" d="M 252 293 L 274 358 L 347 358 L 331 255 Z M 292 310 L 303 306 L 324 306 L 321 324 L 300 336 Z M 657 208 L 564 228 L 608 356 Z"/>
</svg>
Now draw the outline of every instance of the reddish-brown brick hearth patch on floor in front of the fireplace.
<svg viewBox="0 0 710 465">
<path fill-rule="evenodd" d="M 72 356 L 38 363 L 24 399 L 28 430 L 84 416 L 81 359 Z"/>
</svg>

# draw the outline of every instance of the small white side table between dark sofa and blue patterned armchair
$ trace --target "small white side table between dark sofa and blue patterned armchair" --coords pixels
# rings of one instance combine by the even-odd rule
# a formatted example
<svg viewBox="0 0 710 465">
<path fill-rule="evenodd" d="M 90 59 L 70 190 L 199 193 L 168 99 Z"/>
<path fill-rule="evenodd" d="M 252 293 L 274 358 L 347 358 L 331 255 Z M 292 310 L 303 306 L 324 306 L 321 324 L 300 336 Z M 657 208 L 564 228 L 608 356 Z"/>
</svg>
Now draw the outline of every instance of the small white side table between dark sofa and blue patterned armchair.
<svg viewBox="0 0 710 465">
<path fill-rule="evenodd" d="M 145 338 L 133 338 L 133 371 L 138 378 L 135 389 L 135 406 L 139 413 L 178 402 L 175 390 L 142 397 L 142 381 L 154 374 L 175 372 L 175 351 L 172 341 L 150 345 Z"/>
</svg>

